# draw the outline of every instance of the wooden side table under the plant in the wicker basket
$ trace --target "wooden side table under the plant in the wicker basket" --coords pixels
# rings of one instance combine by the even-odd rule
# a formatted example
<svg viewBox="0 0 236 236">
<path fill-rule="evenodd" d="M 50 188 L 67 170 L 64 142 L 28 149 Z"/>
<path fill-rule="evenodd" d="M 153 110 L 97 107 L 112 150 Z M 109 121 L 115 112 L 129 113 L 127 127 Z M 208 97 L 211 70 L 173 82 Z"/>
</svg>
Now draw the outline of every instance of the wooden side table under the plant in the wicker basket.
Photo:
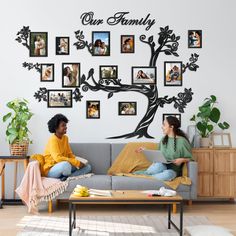
<svg viewBox="0 0 236 236">
<path fill-rule="evenodd" d="M 24 171 L 26 170 L 29 163 L 30 156 L 0 156 L 0 176 L 2 177 L 2 197 L 0 200 L 0 208 L 2 205 L 11 205 L 11 204 L 22 204 L 21 200 L 16 198 L 16 184 L 17 184 L 17 170 L 18 170 L 18 162 L 23 162 Z M 13 199 L 5 199 L 5 164 L 7 162 L 14 162 L 15 170 L 14 170 L 14 197 Z"/>
</svg>

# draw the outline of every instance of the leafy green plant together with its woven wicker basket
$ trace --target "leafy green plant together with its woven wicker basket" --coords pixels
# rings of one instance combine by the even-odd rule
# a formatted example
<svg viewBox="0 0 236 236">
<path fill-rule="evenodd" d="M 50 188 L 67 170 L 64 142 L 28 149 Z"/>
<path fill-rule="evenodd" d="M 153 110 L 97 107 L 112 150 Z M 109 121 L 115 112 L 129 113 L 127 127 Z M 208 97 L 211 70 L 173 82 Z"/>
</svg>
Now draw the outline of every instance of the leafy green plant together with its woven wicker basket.
<svg viewBox="0 0 236 236">
<path fill-rule="evenodd" d="M 12 112 L 3 117 L 3 122 L 9 120 L 6 129 L 6 139 L 10 145 L 10 153 L 13 156 L 26 156 L 29 143 L 28 121 L 33 113 L 28 107 L 28 101 L 25 99 L 14 99 L 7 103 L 7 107 Z"/>
</svg>

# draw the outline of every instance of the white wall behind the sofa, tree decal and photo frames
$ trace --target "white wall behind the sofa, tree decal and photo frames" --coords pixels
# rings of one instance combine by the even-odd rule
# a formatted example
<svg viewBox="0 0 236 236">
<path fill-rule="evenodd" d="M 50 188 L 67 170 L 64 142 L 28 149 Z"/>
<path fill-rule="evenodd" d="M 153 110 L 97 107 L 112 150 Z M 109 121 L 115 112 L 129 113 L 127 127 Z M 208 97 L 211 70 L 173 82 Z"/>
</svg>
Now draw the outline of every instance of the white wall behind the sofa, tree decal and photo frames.
<svg viewBox="0 0 236 236">
<path fill-rule="evenodd" d="M 106 137 L 124 134 L 133 131 L 146 111 L 147 101 L 141 94 L 118 93 L 111 99 L 107 99 L 105 92 L 84 93 L 82 102 L 74 103 L 72 109 L 48 109 L 46 103 L 38 103 L 33 94 L 39 87 L 61 88 L 61 63 L 80 62 L 82 72 L 87 74 L 93 67 L 98 75 L 100 64 L 118 64 L 119 77 L 125 83 L 131 82 L 131 66 L 148 65 L 150 49 L 138 40 L 140 34 L 157 35 L 159 27 L 170 25 L 176 35 L 180 35 L 179 54 L 177 60 L 186 62 L 192 52 L 200 54 L 199 70 L 187 71 L 184 74 L 183 87 L 163 86 L 163 62 L 176 60 L 173 56 L 160 56 L 157 63 L 159 95 L 176 95 L 183 91 L 184 87 L 191 87 L 194 91 L 193 101 L 188 104 L 182 115 L 182 127 L 186 129 L 189 118 L 196 111 L 201 101 L 215 94 L 222 110 L 222 119 L 231 124 L 233 145 L 236 145 L 235 133 L 235 38 L 234 22 L 236 2 L 233 0 L 215 1 L 4 1 L 1 3 L 1 85 L 0 85 L 0 114 L 1 117 L 8 110 L 5 104 L 16 97 L 24 97 L 30 101 L 30 107 L 34 117 L 30 122 L 30 130 L 34 144 L 30 147 L 30 153 L 42 152 L 49 137 L 47 121 L 55 113 L 64 113 L 70 120 L 68 135 L 73 142 L 107 142 Z M 148 31 L 144 26 L 83 26 L 80 21 L 81 13 L 94 11 L 97 18 L 106 19 L 117 11 L 130 11 L 130 18 L 141 18 L 151 13 L 151 18 L 156 19 L 156 24 Z M 18 44 L 14 39 L 21 27 L 29 25 L 31 31 L 47 31 L 49 35 L 49 57 L 29 58 L 28 50 Z M 92 57 L 86 50 L 77 51 L 72 43 L 75 42 L 74 31 L 83 29 L 88 40 L 91 39 L 91 31 L 111 31 L 111 57 Z M 187 30 L 203 30 L 203 48 L 187 48 Z M 120 35 L 136 35 L 135 54 L 120 54 Z M 55 36 L 70 36 L 70 56 L 55 55 Z M 156 37 L 157 39 L 157 37 Z M 52 62 L 55 63 L 55 83 L 41 83 L 39 75 L 35 71 L 28 72 L 22 67 L 27 62 Z M 101 100 L 101 119 L 85 119 L 86 100 Z M 118 101 L 136 100 L 138 114 L 133 117 L 118 116 Z M 158 141 L 162 135 L 162 113 L 176 112 L 173 104 L 159 109 L 155 120 L 149 128 L 149 133 Z M 0 150 L 1 154 L 8 154 L 8 144 L 5 141 L 6 125 L 0 122 Z M 128 140 L 112 140 L 112 142 L 128 142 Z M 144 139 L 142 139 L 144 140 Z M 11 166 L 7 167 L 12 172 Z M 22 175 L 22 171 L 19 175 Z M 12 178 L 7 178 L 7 197 L 12 197 L 10 191 Z"/>
</svg>

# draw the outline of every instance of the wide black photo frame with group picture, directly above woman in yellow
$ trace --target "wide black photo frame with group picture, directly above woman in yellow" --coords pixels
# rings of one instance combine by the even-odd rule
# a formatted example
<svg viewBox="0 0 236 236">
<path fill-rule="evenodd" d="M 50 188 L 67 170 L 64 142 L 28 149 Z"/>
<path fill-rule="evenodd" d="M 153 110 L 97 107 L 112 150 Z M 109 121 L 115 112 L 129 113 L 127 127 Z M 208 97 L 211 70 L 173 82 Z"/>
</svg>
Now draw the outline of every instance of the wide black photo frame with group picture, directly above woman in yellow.
<svg viewBox="0 0 236 236">
<path fill-rule="evenodd" d="M 49 89 L 47 92 L 48 92 L 48 96 L 47 96 L 48 108 L 71 108 L 72 107 L 73 105 L 72 90 Z"/>
</svg>

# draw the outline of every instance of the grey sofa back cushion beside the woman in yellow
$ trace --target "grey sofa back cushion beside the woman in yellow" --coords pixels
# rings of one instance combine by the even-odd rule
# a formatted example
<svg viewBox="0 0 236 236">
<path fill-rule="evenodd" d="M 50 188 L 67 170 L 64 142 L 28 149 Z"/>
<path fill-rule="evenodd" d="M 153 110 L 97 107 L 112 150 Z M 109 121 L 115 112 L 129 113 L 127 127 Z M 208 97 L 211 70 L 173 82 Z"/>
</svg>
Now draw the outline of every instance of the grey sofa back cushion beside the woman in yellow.
<svg viewBox="0 0 236 236">
<path fill-rule="evenodd" d="M 94 174 L 106 174 L 111 166 L 111 146 L 109 143 L 71 143 L 76 156 L 87 159 Z"/>
</svg>

